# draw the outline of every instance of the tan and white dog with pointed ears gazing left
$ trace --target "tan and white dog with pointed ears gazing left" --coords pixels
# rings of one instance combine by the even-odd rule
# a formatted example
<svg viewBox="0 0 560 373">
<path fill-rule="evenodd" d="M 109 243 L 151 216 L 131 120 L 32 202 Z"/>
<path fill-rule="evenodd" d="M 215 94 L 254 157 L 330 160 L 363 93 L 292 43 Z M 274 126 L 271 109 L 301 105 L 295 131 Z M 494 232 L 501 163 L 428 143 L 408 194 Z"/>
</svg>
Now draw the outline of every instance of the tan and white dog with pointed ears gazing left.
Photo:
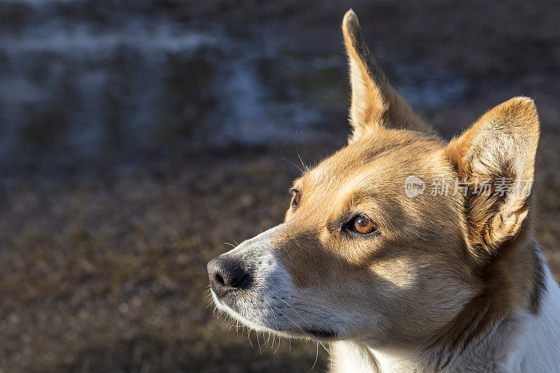
<svg viewBox="0 0 560 373">
<path fill-rule="evenodd" d="M 352 10 L 342 31 L 348 145 L 297 178 L 283 223 L 208 263 L 216 307 L 330 342 L 333 372 L 560 372 L 560 288 L 531 226 L 533 100 L 443 141 Z"/>
</svg>

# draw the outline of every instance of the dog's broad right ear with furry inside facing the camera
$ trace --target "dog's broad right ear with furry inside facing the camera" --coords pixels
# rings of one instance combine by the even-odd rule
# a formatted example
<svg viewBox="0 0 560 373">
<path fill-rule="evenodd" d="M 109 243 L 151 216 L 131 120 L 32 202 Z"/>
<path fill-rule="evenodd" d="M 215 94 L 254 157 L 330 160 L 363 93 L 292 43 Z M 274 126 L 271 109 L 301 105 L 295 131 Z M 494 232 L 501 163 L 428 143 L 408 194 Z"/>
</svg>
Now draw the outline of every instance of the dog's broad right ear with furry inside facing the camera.
<svg viewBox="0 0 560 373">
<path fill-rule="evenodd" d="M 493 253 L 519 233 L 528 214 L 538 138 L 533 100 L 514 97 L 449 143 L 447 157 L 468 181 L 465 213 L 475 247 Z"/>
</svg>

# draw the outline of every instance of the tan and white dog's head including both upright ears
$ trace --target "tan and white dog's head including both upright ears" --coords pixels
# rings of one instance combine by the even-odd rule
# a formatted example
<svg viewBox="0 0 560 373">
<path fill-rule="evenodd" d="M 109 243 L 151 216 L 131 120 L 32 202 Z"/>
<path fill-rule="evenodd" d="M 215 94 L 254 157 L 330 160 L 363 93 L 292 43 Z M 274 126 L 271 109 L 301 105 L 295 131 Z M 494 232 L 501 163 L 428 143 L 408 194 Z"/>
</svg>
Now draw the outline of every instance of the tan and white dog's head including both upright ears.
<svg viewBox="0 0 560 373">
<path fill-rule="evenodd" d="M 232 318 L 285 337 L 428 341 L 488 290 L 492 258 L 527 237 L 537 113 L 510 99 L 446 143 L 389 85 L 351 10 L 342 30 L 349 144 L 293 183 L 283 223 L 209 262 L 212 295 Z M 523 264 L 500 266 L 496 287 Z"/>
</svg>

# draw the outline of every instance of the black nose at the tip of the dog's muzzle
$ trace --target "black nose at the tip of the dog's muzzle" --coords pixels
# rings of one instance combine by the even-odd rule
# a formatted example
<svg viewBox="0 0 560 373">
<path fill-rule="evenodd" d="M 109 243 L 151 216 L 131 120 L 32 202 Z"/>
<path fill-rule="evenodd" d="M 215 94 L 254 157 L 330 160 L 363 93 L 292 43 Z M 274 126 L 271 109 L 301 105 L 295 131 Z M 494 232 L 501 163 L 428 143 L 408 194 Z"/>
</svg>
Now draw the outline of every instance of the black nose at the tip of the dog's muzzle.
<svg viewBox="0 0 560 373">
<path fill-rule="evenodd" d="M 246 289 L 251 285 L 251 275 L 232 258 L 218 256 L 208 262 L 210 287 L 218 297 L 235 289 Z"/>
</svg>

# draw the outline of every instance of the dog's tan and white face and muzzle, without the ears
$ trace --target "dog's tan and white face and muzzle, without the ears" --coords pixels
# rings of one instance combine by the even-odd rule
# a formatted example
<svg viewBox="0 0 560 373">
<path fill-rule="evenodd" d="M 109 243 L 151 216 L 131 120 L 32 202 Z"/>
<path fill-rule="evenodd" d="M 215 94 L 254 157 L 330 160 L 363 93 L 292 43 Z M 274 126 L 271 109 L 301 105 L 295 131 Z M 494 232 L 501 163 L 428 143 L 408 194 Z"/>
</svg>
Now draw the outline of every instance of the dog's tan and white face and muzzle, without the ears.
<svg viewBox="0 0 560 373">
<path fill-rule="evenodd" d="M 320 339 L 396 337 L 407 324 L 402 338 L 412 338 L 449 322 L 456 296 L 473 293 L 456 231 L 461 199 L 405 195 L 409 175 L 453 176 L 442 157 L 438 141 L 388 130 L 321 162 L 295 181 L 283 224 L 210 263 L 211 273 L 227 268 L 211 278 L 218 308 L 253 328 Z"/>
</svg>

